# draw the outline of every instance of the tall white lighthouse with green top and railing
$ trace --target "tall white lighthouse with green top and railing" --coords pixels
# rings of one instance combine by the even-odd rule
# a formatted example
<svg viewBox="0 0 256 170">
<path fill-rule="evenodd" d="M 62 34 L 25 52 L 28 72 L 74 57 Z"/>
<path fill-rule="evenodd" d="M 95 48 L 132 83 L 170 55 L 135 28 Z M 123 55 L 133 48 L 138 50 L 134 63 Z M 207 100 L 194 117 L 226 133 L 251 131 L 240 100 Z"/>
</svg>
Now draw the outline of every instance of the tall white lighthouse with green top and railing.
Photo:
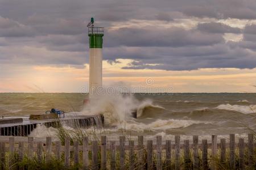
<svg viewBox="0 0 256 170">
<path fill-rule="evenodd" d="M 89 36 L 89 100 L 97 99 L 102 88 L 102 44 L 104 27 L 94 27 L 94 19 L 90 19 Z"/>
</svg>

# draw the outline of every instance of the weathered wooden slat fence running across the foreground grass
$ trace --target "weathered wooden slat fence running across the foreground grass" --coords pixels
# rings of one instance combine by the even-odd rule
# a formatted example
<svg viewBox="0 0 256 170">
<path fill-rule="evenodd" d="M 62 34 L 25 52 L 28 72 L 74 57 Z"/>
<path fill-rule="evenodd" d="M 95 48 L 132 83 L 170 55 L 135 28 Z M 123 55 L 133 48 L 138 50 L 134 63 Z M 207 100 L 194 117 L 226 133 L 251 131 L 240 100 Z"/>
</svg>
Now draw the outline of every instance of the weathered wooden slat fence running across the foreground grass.
<svg viewBox="0 0 256 170">
<path fill-rule="evenodd" d="M 81 143 L 73 141 L 72 145 L 66 138 L 62 146 L 60 141 L 52 142 L 51 137 L 47 137 L 45 143 L 35 142 L 32 137 L 28 137 L 27 142 L 10 137 L 8 142 L 0 141 L 0 159 L 3 162 L 6 153 L 16 152 L 20 160 L 24 155 L 36 156 L 46 163 L 55 156 L 58 160 L 64 159 L 66 168 L 72 163 L 80 164 L 83 169 L 220 169 L 217 159 L 220 164 L 228 164 L 229 169 L 255 168 L 253 134 L 248 135 L 247 143 L 243 138 L 235 143 L 234 134 L 230 134 L 229 143 L 226 139 L 217 143 L 217 135 L 212 135 L 211 143 L 207 139 L 200 143 L 197 135 L 193 136 L 192 143 L 189 140 L 181 143 L 179 135 L 175 141 L 162 141 L 161 136 L 156 136 L 156 143 L 144 142 L 143 136 L 139 136 L 136 143 L 124 136 L 119 137 L 119 142 L 107 142 L 106 136 L 102 136 L 100 141 L 88 141 L 85 137 Z"/>
</svg>

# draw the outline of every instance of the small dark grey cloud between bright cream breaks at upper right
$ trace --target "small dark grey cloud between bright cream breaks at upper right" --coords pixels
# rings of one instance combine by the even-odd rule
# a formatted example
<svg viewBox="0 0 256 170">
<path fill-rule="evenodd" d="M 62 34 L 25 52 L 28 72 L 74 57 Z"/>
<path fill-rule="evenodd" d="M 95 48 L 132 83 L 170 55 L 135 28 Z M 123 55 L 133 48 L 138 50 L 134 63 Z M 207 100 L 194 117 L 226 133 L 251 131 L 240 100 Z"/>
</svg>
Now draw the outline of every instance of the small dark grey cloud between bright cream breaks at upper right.
<svg viewBox="0 0 256 170">
<path fill-rule="evenodd" d="M 240 28 L 233 28 L 223 23 L 201 23 L 197 25 L 197 29 L 209 33 L 241 33 Z"/>
</svg>

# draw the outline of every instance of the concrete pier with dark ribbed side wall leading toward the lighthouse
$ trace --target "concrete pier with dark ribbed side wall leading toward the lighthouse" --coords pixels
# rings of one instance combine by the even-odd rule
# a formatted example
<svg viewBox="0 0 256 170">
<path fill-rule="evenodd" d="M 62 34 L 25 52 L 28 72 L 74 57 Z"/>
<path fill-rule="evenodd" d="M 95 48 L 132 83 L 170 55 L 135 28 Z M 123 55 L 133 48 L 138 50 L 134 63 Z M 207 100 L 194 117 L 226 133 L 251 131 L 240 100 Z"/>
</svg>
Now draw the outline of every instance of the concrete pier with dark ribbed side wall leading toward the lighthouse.
<svg viewBox="0 0 256 170">
<path fill-rule="evenodd" d="M 76 114 L 66 114 L 65 118 L 48 120 L 29 120 L 29 117 L 15 117 L 23 119 L 22 122 L 0 124 L 0 136 L 21 136 L 30 135 L 31 131 L 38 125 L 45 125 L 47 128 L 57 128 L 61 125 L 71 126 L 72 128 L 89 128 L 90 126 L 103 126 L 103 116 L 79 116 Z M 9 117 L 10 118 L 10 117 Z"/>
</svg>

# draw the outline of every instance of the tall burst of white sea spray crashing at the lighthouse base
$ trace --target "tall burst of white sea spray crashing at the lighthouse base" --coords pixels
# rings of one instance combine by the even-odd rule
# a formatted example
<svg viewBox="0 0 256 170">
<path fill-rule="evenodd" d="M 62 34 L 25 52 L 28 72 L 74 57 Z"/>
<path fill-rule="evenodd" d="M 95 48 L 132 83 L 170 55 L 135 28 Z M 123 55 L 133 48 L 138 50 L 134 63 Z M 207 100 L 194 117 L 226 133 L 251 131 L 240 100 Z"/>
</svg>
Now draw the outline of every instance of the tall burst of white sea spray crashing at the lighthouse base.
<svg viewBox="0 0 256 170">
<path fill-rule="evenodd" d="M 143 115 L 146 108 L 160 108 L 151 100 L 139 101 L 133 95 L 102 95 L 97 100 L 84 106 L 82 114 L 103 114 L 104 124 L 110 126 L 122 125 L 131 118 L 131 113 L 137 111 L 137 117 Z"/>
</svg>

